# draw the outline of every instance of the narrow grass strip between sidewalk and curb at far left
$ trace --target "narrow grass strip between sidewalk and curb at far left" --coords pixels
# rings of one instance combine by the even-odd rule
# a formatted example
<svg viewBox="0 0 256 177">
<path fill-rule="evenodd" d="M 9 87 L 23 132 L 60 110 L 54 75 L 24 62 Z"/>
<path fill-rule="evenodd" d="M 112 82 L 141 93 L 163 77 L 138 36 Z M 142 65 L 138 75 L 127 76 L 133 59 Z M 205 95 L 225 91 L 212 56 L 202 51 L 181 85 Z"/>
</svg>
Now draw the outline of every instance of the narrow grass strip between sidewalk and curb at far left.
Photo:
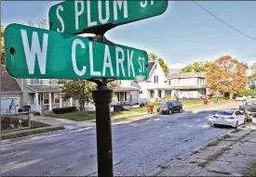
<svg viewBox="0 0 256 177">
<path fill-rule="evenodd" d="M 37 131 L 34 130 L 32 132 L 1 135 L 1 140 L 13 139 L 13 138 L 18 138 L 18 137 L 23 137 L 23 136 L 28 136 L 28 135 L 38 134 L 38 133 L 48 133 L 48 132 L 53 132 L 53 131 L 60 131 L 63 129 L 65 129 L 65 128 L 64 127 L 54 127 L 54 128 L 48 128 L 45 130 L 37 130 Z"/>
</svg>

